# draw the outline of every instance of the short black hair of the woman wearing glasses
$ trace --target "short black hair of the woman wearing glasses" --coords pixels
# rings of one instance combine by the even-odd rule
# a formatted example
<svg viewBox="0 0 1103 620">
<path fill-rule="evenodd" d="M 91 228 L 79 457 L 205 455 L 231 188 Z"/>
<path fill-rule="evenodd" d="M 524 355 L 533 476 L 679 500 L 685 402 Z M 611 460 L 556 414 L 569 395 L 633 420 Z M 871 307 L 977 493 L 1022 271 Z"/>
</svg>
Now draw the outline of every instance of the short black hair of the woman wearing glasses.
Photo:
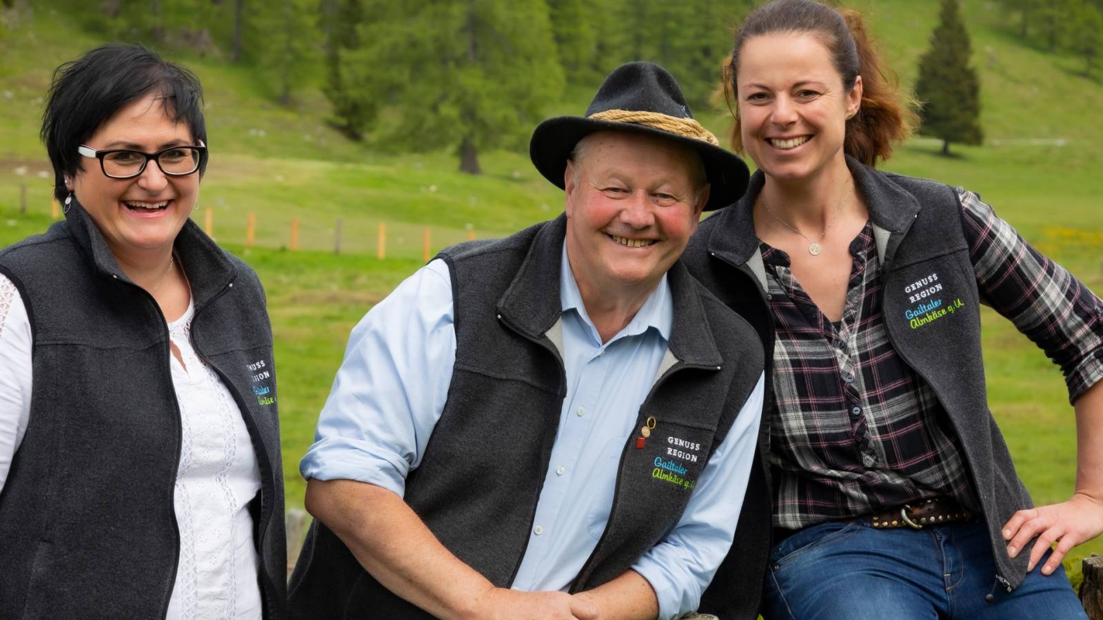
<svg viewBox="0 0 1103 620">
<path fill-rule="evenodd" d="M 100 45 L 54 71 L 42 113 L 42 142 L 54 167 L 54 195 L 65 200 L 65 175 L 75 175 L 83 145 L 109 118 L 142 95 L 157 94 L 173 122 L 206 143 L 203 87 L 195 74 L 141 44 Z M 200 174 L 206 169 L 200 160 Z"/>
</svg>

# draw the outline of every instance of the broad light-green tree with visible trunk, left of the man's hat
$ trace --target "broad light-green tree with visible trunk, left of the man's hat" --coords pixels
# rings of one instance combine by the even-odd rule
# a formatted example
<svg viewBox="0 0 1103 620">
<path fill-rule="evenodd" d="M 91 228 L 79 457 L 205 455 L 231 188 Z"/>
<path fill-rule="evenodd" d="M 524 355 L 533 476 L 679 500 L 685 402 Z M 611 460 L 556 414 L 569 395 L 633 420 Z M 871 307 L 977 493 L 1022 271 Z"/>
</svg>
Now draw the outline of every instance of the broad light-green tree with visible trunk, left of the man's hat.
<svg viewBox="0 0 1103 620">
<path fill-rule="evenodd" d="M 343 90 L 381 145 L 479 152 L 521 147 L 563 90 L 545 0 L 374 0 L 358 49 L 340 58 Z"/>
</svg>

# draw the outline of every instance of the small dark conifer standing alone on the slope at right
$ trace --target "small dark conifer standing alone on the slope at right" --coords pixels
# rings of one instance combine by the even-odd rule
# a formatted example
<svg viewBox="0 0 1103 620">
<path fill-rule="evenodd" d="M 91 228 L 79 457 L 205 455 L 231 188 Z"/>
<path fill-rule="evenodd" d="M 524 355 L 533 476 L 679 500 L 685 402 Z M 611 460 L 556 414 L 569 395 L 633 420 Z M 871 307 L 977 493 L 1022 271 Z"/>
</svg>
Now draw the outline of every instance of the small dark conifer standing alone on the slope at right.
<svg viewBox="0 0 1103 620">
<path fill-rule="evenodd" d="M 942 140 L 942 154 L 950 143 L 979 145 L 981 79 L 970 66 L 968 32 L 961 20 L 957 0 L 942 0 L 939 25 L 931 33 L 931 47 L 919 60 L 915 97 L 923 136 Z"/>
</svg>

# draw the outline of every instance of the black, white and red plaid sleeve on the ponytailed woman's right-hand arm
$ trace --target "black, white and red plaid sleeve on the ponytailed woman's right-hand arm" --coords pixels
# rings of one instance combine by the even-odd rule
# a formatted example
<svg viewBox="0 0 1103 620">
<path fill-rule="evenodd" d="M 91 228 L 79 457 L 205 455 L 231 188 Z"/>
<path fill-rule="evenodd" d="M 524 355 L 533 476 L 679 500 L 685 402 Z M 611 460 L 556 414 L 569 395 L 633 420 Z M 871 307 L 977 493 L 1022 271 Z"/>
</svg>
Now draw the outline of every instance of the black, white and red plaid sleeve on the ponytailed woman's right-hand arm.
<svg viewBox="0 0 1103 620">
<path fill-rule="evenodd" d="M 978 195 L 959 189 L 957 196 L 982 298 L 1061 367 L 1074 403 L 1103 378 L 1103 302 Z"/>
</svg>

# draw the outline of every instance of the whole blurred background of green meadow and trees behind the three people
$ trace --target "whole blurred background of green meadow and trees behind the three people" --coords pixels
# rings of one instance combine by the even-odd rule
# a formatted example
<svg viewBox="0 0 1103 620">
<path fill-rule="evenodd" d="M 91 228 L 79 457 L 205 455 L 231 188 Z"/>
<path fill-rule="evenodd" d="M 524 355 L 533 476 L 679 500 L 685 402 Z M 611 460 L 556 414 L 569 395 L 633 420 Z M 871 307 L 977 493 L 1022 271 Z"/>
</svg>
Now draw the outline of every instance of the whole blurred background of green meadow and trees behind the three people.
<svg viewBox="0 0 1103 620">
<path fill-rule="evenodd" d="M 911 87 L 934 0 L 854 0 Z M 39 141 L 61 63 L 140 41 L 193 70 L 210 165 L 194 217 L 245 258 L 276 336 L 287 504 L 350 329 L 425 256 L 563 209 L 532 167 L 548 116 L 583 114 L 602 76 L 655 61 L 695 116 L 730 131 L 720 65 L 748 0 L 2 0 L 0 247 L 58 217 Z M 881 168 L 979 192 L 1042 253 L 1103 291 L 1103 2 L 963 0 L 983 137 L 917 136 Z M 932 95 L 933 98 L 933 95 Z M 964 135 L 964 133 L 963 133 Z M 992 410 L 1038 503 L 1074 483 L 1060 371 L 984 309 Z M 1103 552 L 1094 541 L 1065 564 Z"/>
</svg>

